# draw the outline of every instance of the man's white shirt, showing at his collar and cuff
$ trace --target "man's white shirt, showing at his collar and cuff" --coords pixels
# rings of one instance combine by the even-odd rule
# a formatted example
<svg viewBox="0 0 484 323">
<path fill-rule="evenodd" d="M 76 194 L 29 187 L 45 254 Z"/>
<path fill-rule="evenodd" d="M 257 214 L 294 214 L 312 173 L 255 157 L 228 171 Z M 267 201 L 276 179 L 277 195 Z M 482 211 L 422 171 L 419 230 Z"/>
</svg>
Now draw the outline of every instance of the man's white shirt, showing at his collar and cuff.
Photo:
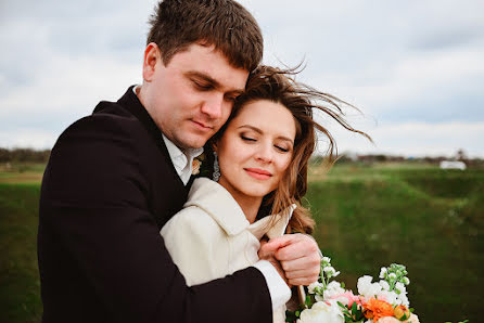
<svg viewBox="0 0 484 323">
<path fill-rule="evenodd" d="M 137 90 L 139 86 L 135 86 L 132 91 L 136 95 L 138 95 Z M 168 138 L 163 134 L 163 140 L 168 150 L 169 157 L 171 163 L 175 166 L 175 169 L 180 177 L 181 181 L 187 184 L 190 180 L 190 176 L 192 175 L 192 162 L 193 158 L 202 154 L 203 148 L 199 150 L 190 150 L 184 154 L 181 150 L 176 146 Z M 267 287 L 269 289 L 270 299 L 272 301 L 272 310 L 277 310 L 283 307 L 289 299 L 291 298 L 291 289 L 288 287 L 285 282 L 279 275 L 276 268 L 270 264 L 267 260 L 258 260 L 253 267 L 257 268 L 264 277 L 266 279 Z"/>
</svg>

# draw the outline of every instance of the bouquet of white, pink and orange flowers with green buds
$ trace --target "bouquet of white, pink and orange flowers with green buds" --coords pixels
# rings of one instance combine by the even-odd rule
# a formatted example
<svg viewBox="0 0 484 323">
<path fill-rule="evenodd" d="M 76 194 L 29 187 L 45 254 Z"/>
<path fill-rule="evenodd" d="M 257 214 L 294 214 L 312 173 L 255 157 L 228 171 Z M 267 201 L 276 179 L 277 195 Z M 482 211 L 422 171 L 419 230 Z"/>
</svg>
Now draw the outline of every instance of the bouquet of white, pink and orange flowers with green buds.
<svg viewBox="0 0 484 323">
<path fill-rule="evenodd" d="M 380 282 L 358 279 L 358 294 L 344 284 L 331 281 L 340 274 L 331 259 L 321 260 L 320 279 L 308 286 L 305 303 L 296 311 L 286 311 L 286 322 L 296 323 L 419 323 L 407 298 L 410 284 L 405 266 L 392 263 L 380 271 Z"/>
</svg>

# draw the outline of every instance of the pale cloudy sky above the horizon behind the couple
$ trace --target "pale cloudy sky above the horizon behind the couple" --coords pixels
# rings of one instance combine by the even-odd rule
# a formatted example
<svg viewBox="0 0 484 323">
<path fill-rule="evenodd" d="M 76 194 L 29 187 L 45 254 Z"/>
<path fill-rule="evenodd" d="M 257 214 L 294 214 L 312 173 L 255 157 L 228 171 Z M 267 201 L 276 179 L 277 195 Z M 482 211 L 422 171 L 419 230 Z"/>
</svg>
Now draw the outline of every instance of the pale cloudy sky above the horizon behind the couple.
<svg viewBox="0 0 484 323">
<path fill-rule="evenodd" d="M 484 157 L 484 1 L 241 0 L 264 63 L 357 106 L 340 153 Z M 140 83 L 154 0 L 0 0 L 0 147 L 51 148 Z M 321 140 L 320 152 L 324 151 Z"/>
</svg>

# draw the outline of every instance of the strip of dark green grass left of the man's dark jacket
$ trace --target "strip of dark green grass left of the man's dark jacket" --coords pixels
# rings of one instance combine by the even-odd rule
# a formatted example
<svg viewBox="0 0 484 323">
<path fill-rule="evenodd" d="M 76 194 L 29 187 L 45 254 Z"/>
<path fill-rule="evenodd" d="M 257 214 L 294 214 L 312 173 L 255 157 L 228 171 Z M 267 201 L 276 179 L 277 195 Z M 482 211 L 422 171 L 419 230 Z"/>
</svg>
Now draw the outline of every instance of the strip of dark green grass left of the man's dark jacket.
<svg viewBox="0 0 484 323">
<path fill-rule="evenodd" d="M 40 322 L 39 184 L 0 184 L 0 322 Z"/>
</svg>

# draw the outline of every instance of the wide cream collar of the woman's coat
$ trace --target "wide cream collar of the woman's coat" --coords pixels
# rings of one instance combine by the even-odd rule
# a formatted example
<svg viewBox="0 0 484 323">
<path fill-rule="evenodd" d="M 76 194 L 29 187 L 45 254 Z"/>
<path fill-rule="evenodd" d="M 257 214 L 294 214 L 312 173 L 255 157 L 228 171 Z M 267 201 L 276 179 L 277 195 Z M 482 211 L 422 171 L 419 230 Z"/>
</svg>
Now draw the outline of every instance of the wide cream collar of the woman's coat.
<svg viewBox="0 0 484 323">
<path fill-rule="evenodd" d="M 228 235 L 237 235 L 249 230 L 257 240 L 265 234 L 269 238 L 284 234 L 295 209 L 295 205 L 292 205 L 289 211 L 283 212 L 284 215 L 277 215 L 275 223 L 270 223 L 271 217 L 265 217 L 251 224 L 232 195 L 224 186 L 207 178 L 194 180 L 183 207 L 189 206 L 202 208 Z"/>
</svg>

